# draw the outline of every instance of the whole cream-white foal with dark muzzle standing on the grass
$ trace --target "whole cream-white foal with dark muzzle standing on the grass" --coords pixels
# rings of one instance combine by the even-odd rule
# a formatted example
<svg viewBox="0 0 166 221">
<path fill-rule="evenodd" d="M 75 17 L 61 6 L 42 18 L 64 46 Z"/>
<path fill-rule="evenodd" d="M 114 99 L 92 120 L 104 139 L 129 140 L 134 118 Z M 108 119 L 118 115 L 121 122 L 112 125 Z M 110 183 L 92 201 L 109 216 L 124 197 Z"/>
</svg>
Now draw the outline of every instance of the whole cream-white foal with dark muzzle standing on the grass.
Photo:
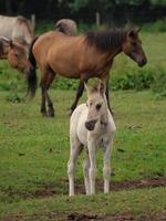
<svg viewBox="0 0 166 221">
<path fill-rule="evenodd" d="M 84 160 L 84 183 L 86 194 L 95 193 L 96 149 L 102 147 L 104 157 L 103 178 L 104 193 L 110 191 L 111 145 L 116 130 L 113 117 L 107 108 L 105 86 L 102 82 L 97 87 L 87 88 L 87 103 L 76 107 L 70 124 L 70 160 L 68 164 L 69 194 L 74 194 L 74 171 L 76 159 L 83 147 L 86 148 Z"/>
</svg>

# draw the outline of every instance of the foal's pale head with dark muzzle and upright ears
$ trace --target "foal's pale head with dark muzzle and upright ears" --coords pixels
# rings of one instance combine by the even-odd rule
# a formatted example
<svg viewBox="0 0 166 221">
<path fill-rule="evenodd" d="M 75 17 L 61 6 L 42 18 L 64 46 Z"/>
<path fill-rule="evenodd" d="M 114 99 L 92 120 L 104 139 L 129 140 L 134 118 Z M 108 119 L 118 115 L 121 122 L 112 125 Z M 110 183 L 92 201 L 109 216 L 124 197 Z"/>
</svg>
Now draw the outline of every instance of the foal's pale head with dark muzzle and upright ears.
<svg viewBox="0 0 166 221">
<path fill-rule="evenodd" d="M 87 87 L 87 108 L 89 115 L 85 122 L 85 127 L 89 130 L 94 130 L 96 123 L 105 124 L 105 115 L 107 115 L 107 102 L 105 97 L 105 85 L 100 82 L 98 86 Z"/>
</svg>

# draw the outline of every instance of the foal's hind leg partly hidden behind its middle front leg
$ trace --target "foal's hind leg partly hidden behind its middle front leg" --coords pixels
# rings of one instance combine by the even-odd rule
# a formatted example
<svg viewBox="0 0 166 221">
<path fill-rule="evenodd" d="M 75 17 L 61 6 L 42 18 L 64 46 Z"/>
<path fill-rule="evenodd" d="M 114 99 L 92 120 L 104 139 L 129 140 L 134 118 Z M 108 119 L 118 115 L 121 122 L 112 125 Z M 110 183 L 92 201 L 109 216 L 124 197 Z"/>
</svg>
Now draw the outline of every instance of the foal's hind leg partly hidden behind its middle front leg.
<svg viewBox="0 0 166 221">
<path fill-rule="evenodd" d="M 83 172 L 84 172 L 84 185 L 85 185 L 85 191 L 86 194 L 90 194 L 90 175 L 89 175 L 89 170 L 90 170 L 90 158 L 89 158 L 89 152 L 86 155 L 86 159 L 83 162 Z"/>
</svg>

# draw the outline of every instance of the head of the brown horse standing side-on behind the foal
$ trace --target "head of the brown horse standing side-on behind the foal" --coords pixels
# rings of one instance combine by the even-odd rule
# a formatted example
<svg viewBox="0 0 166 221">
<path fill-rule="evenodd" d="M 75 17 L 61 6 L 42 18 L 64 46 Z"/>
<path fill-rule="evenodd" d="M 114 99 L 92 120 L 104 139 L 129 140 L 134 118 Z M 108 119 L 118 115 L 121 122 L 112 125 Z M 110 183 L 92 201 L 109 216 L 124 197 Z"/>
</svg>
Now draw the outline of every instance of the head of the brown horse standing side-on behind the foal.
<svg viewBox="0 0 166 221">
<path fill-rule="evenodd" d="M 134 60 L 139 66 L 144 66 L 147 62 L 146 55 L 142 48 L 142 41 L 138 38 L 138 30 L 129 30 L 126 32 L 126 38 L 123 43 L 122 50 Z"/>
</svg>

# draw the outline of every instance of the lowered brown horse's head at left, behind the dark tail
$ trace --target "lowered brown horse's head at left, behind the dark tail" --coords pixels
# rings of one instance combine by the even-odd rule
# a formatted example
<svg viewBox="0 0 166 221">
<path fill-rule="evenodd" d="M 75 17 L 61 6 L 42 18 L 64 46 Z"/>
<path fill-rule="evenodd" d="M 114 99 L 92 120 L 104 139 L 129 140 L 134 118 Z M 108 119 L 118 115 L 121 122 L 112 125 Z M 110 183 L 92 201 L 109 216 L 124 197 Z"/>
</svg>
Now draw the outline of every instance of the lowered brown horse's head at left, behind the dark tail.
<svg viewBox="0 0 166 221">
<path fill-rule="evenodd" d="M 27 59 L 25 49 L 18 43 L 9 42 L 7 57 L 10 66 L 20 72 L 27 73 L 33 69 L 32 64 Z"/>
</svg>

